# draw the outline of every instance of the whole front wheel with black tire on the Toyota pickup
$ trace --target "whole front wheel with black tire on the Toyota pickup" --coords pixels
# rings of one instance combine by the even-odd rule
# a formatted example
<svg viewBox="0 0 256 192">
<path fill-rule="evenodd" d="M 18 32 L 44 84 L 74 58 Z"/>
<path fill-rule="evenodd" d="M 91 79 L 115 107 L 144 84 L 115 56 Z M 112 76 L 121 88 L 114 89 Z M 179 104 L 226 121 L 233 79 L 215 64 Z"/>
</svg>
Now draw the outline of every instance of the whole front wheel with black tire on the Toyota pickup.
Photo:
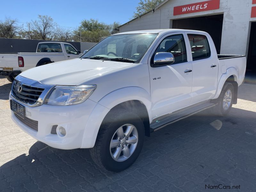
<svg viewBox="0 0 256 192">
<path fill-rule="evenodd" d="M 120 172 L 139 156 L 145 135 L 144 125 L 140 117 L 131 112 L 120 110 L 106 117 L 90 153 L 101 168 Z"/>
</svg>

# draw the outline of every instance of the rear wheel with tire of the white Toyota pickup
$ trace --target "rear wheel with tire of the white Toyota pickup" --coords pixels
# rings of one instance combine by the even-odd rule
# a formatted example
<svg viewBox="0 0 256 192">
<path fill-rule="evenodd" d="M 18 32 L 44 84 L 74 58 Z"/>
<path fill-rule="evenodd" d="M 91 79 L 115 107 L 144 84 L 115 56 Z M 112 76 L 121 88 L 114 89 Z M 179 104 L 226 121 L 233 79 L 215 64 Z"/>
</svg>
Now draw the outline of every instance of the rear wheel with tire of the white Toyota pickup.
<svg viewBox="0 0 256 192">
<path fill-rule="evenodd" d="M 233 105 L 233 98 L 235 96 L 233 84 L 226 82 L 217 99 L 217 104 L 212 108 L 213 113 L 219 116 L 228 115 Z"/>
</svg>

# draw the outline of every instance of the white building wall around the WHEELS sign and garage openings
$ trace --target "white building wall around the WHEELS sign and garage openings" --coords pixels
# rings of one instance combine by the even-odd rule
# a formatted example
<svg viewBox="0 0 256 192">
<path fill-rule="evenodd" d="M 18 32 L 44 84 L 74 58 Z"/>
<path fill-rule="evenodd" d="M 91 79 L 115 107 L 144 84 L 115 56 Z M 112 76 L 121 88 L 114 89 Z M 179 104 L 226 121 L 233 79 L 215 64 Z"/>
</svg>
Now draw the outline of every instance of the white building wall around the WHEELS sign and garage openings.
<svg viewBox="0 0 256 192">
<path fill-rule="evenodd" d="M 202 1 L 204 0 L 169 0 L 156 9 L 154 13 L 149 12 L 140 18 L 125 24 L 120 27 L 119 30 L 120 32 L 125 32 L 172 28 L 173 19 L 224 14 L 220 53 L 245 55 L 248 46 L 247 37 L 249 34 L 250 21 L 256 20 L 256 18 L 251 18 L 252 0 L 220 0 L 220 9 L 218 10 L 173 16 L 173 7 Z"/>
</svg>

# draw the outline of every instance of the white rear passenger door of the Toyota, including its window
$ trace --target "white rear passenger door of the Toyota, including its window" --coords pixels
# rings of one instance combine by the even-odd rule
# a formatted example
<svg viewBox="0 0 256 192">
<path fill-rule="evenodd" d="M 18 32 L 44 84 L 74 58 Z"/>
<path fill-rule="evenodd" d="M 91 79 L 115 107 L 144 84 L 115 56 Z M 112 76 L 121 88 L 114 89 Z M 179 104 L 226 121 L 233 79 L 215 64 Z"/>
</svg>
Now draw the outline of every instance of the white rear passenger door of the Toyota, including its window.
<svg viewBox="0 0 256 192">
<path fill-rule="evenodd" d="M 218 57 L 215 46 L 209 35 L 187 33 L 192 58 L 193 83 L 190 104 L 211 99 L 218 83 Z M 208 41 L 210 39 L 210 41 Z"/>
</svg>

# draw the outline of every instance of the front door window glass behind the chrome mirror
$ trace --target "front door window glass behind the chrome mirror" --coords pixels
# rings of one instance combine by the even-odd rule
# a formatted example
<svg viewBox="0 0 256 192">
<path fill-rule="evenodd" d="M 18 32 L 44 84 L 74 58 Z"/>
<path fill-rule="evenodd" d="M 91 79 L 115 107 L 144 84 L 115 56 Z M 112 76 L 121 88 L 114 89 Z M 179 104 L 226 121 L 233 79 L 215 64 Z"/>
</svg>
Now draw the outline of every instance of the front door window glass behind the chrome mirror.
<svg viewBox="0 0 256 192">
<path fill-rule="evenodd" d="M 186 46 L 182 35 L 166 37 L 157 47 L 157 52 L 170 52 L 173 54 L 175 63 L 187 61 Z"/>
</svg>

